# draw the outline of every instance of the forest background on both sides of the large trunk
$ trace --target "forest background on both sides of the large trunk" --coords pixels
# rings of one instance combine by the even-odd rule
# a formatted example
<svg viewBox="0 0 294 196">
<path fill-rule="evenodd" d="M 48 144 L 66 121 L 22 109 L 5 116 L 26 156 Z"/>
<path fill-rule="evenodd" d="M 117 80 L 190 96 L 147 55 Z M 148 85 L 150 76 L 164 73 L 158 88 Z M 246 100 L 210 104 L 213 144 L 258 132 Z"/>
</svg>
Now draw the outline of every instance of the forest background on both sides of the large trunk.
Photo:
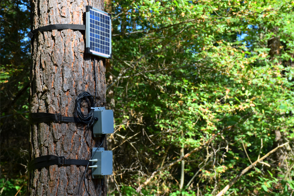
<svg viewBox="0 0 294 196">
<path fill-rule="evenodd" d="M 0 194 L 25 195 L 30 2 L 0 4 Z M 293 195 L 293 8 L 285 0 L 105 2 L 115 114 L 108 194 L 216 195 L 290 142 L 225 195 Z"/>
</svg>

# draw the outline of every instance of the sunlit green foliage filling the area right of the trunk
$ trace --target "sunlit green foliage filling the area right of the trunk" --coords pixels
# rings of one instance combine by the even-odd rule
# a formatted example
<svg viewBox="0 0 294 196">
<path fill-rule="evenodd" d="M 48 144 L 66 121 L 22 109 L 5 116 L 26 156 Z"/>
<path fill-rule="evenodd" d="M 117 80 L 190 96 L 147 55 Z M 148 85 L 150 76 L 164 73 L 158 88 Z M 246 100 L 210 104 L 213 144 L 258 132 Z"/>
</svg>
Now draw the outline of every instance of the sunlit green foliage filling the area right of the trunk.
<svg viewBox="0 0 294 196">
<path fill-rule="evenodd" d="M 240 138 L 252 161 L 293 140 L 293 2 L 112 1 L 106 9 L 113 13 L 106 78 L 116 115 L 110 146 L 121 144 L 114 150 L 118 185 L 138 186 L 138 172 L 128 168 L 141 168 L 146 180 L 181 148 L 188 153 L 220 134 L 186 160 L 184 185 L 214 160 L 191 192 L 178 189 L 180 163 L 147 185 L 159 195 L 185 195 L 198 182 L 202 195 L 215 195 L 251 164 Z M 256 165 L 227 194 L 285 194 L 291 148 L 283 149 L 288 158 L 276 152 L 264 160 L 270 168 Z"/>
</svg>

